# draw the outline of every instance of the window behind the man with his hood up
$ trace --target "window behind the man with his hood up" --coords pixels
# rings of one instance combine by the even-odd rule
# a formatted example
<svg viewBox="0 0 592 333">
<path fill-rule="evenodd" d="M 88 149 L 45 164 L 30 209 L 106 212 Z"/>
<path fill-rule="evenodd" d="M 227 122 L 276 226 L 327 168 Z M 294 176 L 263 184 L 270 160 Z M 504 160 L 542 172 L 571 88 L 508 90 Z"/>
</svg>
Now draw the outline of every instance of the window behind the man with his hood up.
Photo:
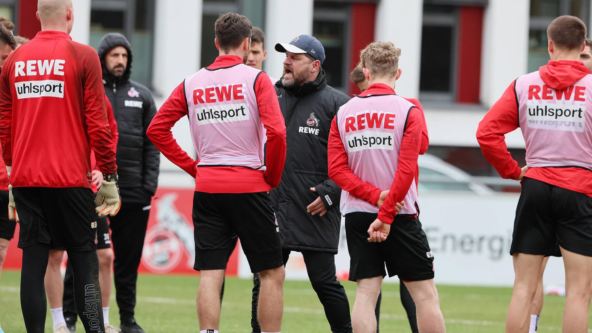
<svg viewBox="0 0 592 333">
<path fill-rule="evenodd" d="M 121 33 L 133 52 L 131 78 L 152 87 L 154 0 L 92 0 L 89 43 L 98 48 L 108 33 Z"/>
</svg>

